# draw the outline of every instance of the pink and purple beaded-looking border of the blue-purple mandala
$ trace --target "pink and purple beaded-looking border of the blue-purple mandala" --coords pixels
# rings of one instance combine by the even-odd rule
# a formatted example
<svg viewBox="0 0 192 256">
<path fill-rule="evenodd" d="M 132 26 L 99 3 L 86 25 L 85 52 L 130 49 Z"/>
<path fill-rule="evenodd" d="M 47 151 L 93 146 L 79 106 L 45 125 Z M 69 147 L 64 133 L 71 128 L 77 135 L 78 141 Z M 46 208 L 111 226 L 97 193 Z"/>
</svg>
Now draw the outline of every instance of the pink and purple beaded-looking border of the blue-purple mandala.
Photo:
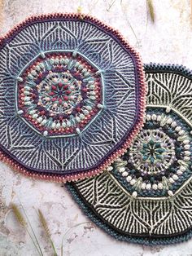
<svg viewBox="0 0 192 256">
<path fill-rule="evenodd" d="M 53 181 L 57 183 L 65 183 L 66 181 L 76 181 L 78 179 L 85 179 L 86 177 L 91 177 L 96 174 L 99 174 L 103 172 L 107 168 L 107 166 L 110 166 L 113 161 L 116 160 L 117 157 L 120 157 L 125 151 L 126 148 L 129 147 L 130 143 L 134 139 L 134 137 L 137 135 L 139 130 L 142 129 L 143 126 L 143 118 L 146 108 L 146 82 L 145 82 L 145 75 L 143 71 L 143 64 L 142 60 L 140 58 L 140 55 L 131 47 L 129 46 L 129 43 L 126 42 L 123 38 L 123 36 L 116 30 L 112 29 L 106 24 L 103 24 L 103 22 L 97 20 L 94 17 L 91 17 L 89 15 L 82 15 L 82 14 L 63 14 L 63 13 L 55 13 L 55 14 L 49 14 L 49 15 L 37 15 L 37 16 L 31 16 L 21 24 L 15 26 L 15 28 L 11 29 L 9 33 L 7 33 L 4 37 L 0 38 L 0 49 L 2 46 L 4 46 L 7 41 L 13 37 L 16 33 L 20 32 L 21 29 L 24 29 L 25 26 L 33 23 L 33 22 L 41 22 L 43 20 L 48 19 L 72 19 L 72 20 L 81 20 L 81 21 L 88 21 L 90 23 L 98 25 L 99 28 L 104 29 L 107 31 L 107 33 L 112 34 L 116 37 L 118 42 L 120 42 L 121 46 L 124 47 L 125 50 L 128 50 L 133 55 L 136 68 L 137 68 L 137 84 L 139 85 L 139 101 L 140 101 L 140 109 L 138 109 L 138 117 L 137 121 L 135 123 L 135 126 L 133 127 L 132 131 L 129 134 L 129 138 L 124 140 L 124 143 L 122 143 L 119 148 L 116 148 L 116 152 L 111 152 L 111 155 L 109 155 L 105 161 L 103 161 L 102 164 L 100 164 L 97 168 L 93 168 L 90 170 L 84 170 L 80 173 L 73 173 L 73 174 L 49 174 L 49 173 L 41 173 L 34 172 L 33 170 L 27 169 L 24 166 L 20 165 L 16 159 L 11 158 L 7 155 L 7 153 L 0 150 L 0 160 L 7 163 L 8 166 L 11 166 L 12 169 L 18 171 L 21 174 L 24 174 L 30 178 L 33 179 L 43 179 L 48 181 Z M 78 172 L 78 170 L 76 170 Z"/>
</svg>

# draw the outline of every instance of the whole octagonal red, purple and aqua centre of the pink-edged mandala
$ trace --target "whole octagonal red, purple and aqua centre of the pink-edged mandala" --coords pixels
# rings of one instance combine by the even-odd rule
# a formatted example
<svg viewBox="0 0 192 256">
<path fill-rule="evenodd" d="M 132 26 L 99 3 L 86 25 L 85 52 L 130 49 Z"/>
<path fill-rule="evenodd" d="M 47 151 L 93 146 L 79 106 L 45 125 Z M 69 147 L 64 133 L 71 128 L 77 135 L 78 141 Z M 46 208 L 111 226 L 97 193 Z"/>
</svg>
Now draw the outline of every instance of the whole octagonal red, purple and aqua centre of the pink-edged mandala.
<svg viewBox="0 0 192 256">
<path fill-rule="evenodd" d="M 74 135 L 102 106 L 98 69 L 72 52 L 37 57 L 18 78 L 18 114 L 42 135 Z"/>
</svg>

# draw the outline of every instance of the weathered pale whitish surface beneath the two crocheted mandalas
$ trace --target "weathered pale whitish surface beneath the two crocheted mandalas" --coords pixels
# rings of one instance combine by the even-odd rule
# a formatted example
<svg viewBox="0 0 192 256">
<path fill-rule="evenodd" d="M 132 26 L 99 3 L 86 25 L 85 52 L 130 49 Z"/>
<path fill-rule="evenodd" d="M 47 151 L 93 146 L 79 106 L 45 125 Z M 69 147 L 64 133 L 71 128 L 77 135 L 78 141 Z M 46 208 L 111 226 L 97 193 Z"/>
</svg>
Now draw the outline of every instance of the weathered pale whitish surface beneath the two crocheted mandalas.
<svg viewBox="0 0 192 256">
<path fill-rule="evenodd" d="M 183 64 L 192 69 L 192 24 L 190 0 L 154 0 L 155 24 L 146 15 L 146 1 L 82 0 L 82 10 L 119 29 L 130 44 L 137 48 L 144 63 Z M 121 5 L 120 5 L 121 2 Z M 28 15 L 50 12 L 75 12 L 75 0 L 4 0 L 0 33 Z M 130 27 L 132 26 L 132 29 Z M 44 255 L 52 255 L 37 220 L 40 208 L 49 223 L 55 247 L 63 255 L 81 256 L 190 256 L 192 242 L 181 245 L 146 247 L 118 242 L 107 236 L 79 210 L 66 189 L 55 183 L 26 179 L 0 164 L 0 255 L 35 256 L 37 252 L 28 235 L 19 227 L 9 208 L 11 202 L 24 205 Z M 81 224 L 80 224 L 81 223 Z M 80 224 L 80 225 L 78 225 Z"/>
</svg>

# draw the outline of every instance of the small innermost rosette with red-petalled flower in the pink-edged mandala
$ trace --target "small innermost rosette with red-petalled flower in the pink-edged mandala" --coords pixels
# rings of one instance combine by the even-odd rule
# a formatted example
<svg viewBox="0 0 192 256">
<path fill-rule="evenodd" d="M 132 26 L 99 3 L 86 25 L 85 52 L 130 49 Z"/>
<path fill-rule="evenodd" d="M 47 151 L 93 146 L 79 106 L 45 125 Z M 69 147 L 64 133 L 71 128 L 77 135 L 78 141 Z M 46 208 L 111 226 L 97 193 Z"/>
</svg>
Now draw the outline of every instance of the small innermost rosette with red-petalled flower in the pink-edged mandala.
<svg viewBox="0 0 192 256">
<path fill-rule="evenodd" d="M 81 80 L 77 80 L 68 71 L 52 73 L 37 85 L 38 105 L 50 111 L 50 115 L 71 114 L 77 104 L 83 100 L 81 96 Z"/>
</svg>

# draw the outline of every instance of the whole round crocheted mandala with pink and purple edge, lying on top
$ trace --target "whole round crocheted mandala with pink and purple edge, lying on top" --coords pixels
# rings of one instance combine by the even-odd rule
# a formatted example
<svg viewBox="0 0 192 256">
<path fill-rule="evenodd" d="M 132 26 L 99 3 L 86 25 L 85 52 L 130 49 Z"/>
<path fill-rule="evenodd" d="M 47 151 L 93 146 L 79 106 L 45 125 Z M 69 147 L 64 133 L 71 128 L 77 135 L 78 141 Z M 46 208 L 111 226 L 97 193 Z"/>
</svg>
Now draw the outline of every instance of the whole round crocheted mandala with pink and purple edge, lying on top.
<svg viewBox="0 0 192 256">
<path fill-rule="evenodd" d="M 139 55 L 82 15 L 34 16 L 0 40 L 0 159 L 57 182 L 98 174 L 142 126 Z"/>
</svg>

